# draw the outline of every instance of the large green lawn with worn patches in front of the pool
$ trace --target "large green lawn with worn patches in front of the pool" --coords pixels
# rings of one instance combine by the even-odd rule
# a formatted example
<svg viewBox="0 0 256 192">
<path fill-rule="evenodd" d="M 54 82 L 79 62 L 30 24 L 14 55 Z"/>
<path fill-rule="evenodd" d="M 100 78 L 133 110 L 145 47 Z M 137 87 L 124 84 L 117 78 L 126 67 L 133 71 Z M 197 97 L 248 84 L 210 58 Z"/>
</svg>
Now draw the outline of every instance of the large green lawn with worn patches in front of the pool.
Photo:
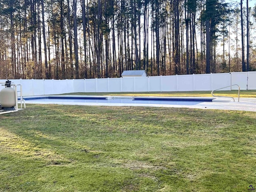
<svg viewBox="0 0 256 192">
<path fill-rule="evenodd" d="M 244 192 L 256 113 L 32 105 L 0 115 L 1 192 Z"/>
</svg>

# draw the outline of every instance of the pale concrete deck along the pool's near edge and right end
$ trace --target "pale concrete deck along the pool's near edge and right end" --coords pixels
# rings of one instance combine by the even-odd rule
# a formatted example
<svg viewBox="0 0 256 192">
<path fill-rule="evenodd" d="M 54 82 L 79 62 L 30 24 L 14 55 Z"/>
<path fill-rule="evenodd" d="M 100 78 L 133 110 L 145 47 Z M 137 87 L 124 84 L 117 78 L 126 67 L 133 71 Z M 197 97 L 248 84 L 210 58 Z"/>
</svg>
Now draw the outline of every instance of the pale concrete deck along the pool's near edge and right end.
<svg viewBox="0 0 256 192">
<path fill-rule="evenodd" d="M 217 110 L 239 110 L 256 112 L 256 98 L 240 98 L 237 102 L 230 98 L 216 98 L 213 102 L 200 102 L 194 105 L 170 105 L 170 104 L 131 104 L 131 103 L 84 103 L 84 102 L 39 102 L 26 100 L 26 104 L 62 104 L 62 105 L 87 105 L 87 106 L 145 106 L 145 107 L 170 107 L 170 108 L 196 108 Z"/>
</svg>

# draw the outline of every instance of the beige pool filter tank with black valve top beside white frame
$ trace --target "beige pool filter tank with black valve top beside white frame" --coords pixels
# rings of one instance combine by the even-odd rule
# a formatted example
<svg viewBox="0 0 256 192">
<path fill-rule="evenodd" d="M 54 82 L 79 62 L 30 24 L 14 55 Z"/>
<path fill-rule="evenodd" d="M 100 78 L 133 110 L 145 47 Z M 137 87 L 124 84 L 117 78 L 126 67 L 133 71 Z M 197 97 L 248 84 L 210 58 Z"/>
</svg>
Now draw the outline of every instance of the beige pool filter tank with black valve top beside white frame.
<svg viewBox="0 0 256 192">
<path fill-rule="evenodd" d="M 5 111 L 15 110 L 15 90 L 11 88 L 11 81 L 9 80 L 5 82 L 5 88 L 0 91 L 0 104 Z"/>
</svg>

